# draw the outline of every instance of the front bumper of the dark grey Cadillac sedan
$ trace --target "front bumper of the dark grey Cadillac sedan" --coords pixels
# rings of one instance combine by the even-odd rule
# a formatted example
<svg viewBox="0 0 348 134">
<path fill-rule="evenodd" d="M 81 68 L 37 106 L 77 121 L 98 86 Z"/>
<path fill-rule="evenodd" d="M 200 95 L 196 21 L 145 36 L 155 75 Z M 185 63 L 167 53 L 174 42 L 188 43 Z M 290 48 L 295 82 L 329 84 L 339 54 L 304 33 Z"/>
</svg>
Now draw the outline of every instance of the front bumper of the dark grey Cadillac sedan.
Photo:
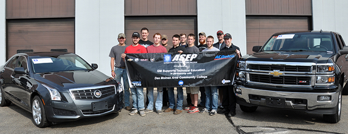
<svg viewBox="0 0 348 134">
<path fill-rule="evenodd" d="M 52 101 L 45 105 L 47 120 L 50 122 L 76 121 L 83 118 L 118 113 L 124 107 L 123 92 L 102 99 L 73 99 L 70 93 L 63 93 L 68 102 Z M 106 101 L 106 102 L 105 102 Z M 92 110 L 92 103 L 105 102 L 107 109 Z"/>
</svg>

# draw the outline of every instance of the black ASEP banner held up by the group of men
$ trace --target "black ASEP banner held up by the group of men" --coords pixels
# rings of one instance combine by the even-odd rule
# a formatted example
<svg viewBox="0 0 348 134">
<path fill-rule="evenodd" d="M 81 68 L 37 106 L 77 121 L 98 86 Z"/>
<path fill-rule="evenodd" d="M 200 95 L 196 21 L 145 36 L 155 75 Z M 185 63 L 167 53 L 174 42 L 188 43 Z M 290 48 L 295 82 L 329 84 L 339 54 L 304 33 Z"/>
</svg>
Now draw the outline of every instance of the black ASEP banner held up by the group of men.
<svg viewBox="0 0 348 134">
<path fill-rule="evenodd" d="M 235 51 L 127 53 L 130 87 L 201 87 L 232 85 Z"/>
</svg>

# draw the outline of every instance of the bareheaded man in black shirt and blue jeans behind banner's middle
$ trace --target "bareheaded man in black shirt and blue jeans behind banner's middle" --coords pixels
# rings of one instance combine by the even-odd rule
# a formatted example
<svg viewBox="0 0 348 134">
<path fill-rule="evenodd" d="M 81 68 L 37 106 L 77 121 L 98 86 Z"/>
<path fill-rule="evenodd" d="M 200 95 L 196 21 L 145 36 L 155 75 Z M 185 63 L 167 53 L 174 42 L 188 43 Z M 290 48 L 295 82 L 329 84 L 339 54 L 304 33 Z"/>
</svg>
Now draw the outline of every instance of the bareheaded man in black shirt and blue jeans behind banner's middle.
<svg viewBox="0 0 348 134">
<path fill-rule="evenodd" d="M 186 48 L 179 45 L 179 35 L 173 36 L 173 47 L 169 49 L 168 52 L 187 52 Z M 171 112 L 174 111 L 174 114 L 180 114 L 182 112 L 182 101 L 183 101 L 183 91 L 182 87 L 177 87 L 177 100 L 176 100 L 176 110 L 174 111 L 175 106 L 175 95 L 174 95 L 174 88 L 168 88 L 168 98 L 169 98 L 169 107 L 164 112 Z"/>
</svg>

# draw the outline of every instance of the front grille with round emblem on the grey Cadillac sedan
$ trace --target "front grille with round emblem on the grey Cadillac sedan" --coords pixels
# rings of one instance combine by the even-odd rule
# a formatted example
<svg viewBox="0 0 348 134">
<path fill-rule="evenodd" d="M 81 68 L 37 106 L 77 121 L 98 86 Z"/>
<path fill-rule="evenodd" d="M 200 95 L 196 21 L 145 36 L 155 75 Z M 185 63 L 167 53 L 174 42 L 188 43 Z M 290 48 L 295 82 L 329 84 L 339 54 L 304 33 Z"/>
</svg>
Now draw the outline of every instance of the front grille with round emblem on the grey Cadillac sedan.
<svg viewBox="0 0 348 134">
<path fill-rule="evenodd" d="M 93 88 L 93 87 L 90 87 Z M 97 98 L 94 96 L 94 91 L 99 90 L 101 92 L 101 96 Z M 101 99 L 108 96 L 111 96 L 115 94 L 115 87 L 109 86 L 109 87 L 102 87 L 102 88 L 95 88 L 95 89 L 71 89 L 70 92 L 73 94 L 75 99 Z"/>
</svg>

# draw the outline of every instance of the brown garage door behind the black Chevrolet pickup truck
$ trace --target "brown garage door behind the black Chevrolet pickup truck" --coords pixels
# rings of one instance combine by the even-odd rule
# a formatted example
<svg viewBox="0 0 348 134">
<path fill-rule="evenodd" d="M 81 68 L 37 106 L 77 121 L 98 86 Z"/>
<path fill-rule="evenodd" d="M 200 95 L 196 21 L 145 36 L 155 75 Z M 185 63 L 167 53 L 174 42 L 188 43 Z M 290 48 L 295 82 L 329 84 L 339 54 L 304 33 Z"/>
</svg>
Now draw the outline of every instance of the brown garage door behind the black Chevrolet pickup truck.
<svg viewBox="0 0 348 134">
<path fill-rule="evenodd" d="M 271 35 L 284 31 L 310 30 L 308 17 L 247 17 L 247 53 L 262 46 Z"/>
</svg>

